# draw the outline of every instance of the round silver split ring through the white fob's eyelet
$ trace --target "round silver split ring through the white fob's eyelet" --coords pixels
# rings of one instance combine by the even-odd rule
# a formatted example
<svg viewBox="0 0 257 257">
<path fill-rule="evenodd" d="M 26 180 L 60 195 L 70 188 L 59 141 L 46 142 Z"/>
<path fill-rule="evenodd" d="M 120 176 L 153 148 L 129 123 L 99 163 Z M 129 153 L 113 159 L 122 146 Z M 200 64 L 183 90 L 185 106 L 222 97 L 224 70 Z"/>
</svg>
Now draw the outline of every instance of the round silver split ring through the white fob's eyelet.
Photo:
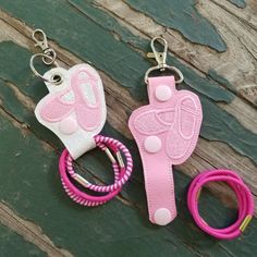
<svg viewBox="0 0 257 257">
<path fill-rule="evenodd" d="M 33 71 L 33 73 L 34 73 L 36 76 L 40 77 L 40 78 L 41 78 L 42 81 L 45 81 L 45 82 L 48 82 L 48 83 L 51 83 L 51 84 L 54 84 L 54 85 L 61 84 L 62 81 L 63 81 L 63 78 L 62 78 L 59 74 L 58 74 L 58 75 L 59 75 L 59 78 L 54 78 L 54 76 L 53 76 L 52 78 L 48 79 L 48 78 L 46 78 L 44 75 L 41 75 L 41 74 L 36 70 L 36 68 L 34 66 L 34 60 L 35 60 L 35 58 L 38 58 L 38 57 L 41 57 L 42 60 L 44 60 L 44 59 L 49 59 L 49 60 L 51 60 L 51 61 L 48 62 L 48 63 L 53 64 L 56 68 L 59 68 L 59 64 L 54 61 L 54 59 L 52 59 L 51 56 L 48 56 L 48 54 L 46 54 L 46 53 L 36 53 L 36 54 L 33 54 L 33 56 L 32 56 L 30 61 L 29 61 L 29 65 L 30 65 L 30 69 L 32 69 L 32 71 Z M 53 60 L 53 61 L 52 61 L 52 60 Z"/>
</svg>

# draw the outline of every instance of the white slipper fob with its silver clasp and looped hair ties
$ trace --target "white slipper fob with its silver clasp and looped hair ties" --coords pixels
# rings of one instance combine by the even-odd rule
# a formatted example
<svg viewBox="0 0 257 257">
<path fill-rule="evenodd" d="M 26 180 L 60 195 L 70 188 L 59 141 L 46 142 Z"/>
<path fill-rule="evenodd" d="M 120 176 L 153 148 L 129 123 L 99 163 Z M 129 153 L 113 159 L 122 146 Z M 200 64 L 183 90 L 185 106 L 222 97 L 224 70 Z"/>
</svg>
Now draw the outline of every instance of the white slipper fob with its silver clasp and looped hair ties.
<svg viewBox="0 0 257 257">
<path fill-rule="evenodd" d="M 48 47 L 46 34 L 41 29 L 36 29 L 33 38 L 44 53 L 32 57 L 30 69 L 44 79 L 49 90 L 36 106 L 35 114 L 65 146 L 59 159 L 62 185 L 66 194 L 79 205 L 102 205 L 120 193 L 131 176 L 133 161 L 128 149 L 121 142 L 99 135 L 107 119 L 101 78 L 86 63 L 70 70 L 60 68 L 56 62 L 56 51 Z M 53 64 L 56 68 L 41 75 L 34 66 L 35 58 L 41 58 L 45 64 Z M 95 185 L 73 168 L 74 160 L 95 147 L 103 150 L 111 161 L 114 172 L 112 184 Z"/>
</svg>

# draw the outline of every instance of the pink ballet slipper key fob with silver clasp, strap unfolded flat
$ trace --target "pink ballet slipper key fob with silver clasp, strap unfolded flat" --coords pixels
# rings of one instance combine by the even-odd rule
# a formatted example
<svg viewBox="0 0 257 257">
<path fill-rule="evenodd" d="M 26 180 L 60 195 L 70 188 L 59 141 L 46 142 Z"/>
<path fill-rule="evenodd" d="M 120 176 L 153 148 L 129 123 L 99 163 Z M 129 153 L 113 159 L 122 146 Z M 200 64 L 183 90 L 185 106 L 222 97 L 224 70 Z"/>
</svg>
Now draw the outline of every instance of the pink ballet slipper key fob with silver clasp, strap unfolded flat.
<svg viewBox="0 0 257 257">
<path fill-rule="evenodd" d="M 157 39 L 164 42 L 161 53 L 154 46 Z M 183 74 L 166 64 L 167 41 L 156 37 L 151 49 L 158 65 L 145 75 L 149 105 L 133 111 L 128 126 L 143 161 L 149 220 L 166 225 L 176 216 L 172 166 L 183 163 L 195 149 L 203 112 L 195 94 L 175 88 L 175 83 L 183 81 Z M 180 79 L 170 75 L 148 77 L 155 70 L 171 70 Z"/>
</svg>

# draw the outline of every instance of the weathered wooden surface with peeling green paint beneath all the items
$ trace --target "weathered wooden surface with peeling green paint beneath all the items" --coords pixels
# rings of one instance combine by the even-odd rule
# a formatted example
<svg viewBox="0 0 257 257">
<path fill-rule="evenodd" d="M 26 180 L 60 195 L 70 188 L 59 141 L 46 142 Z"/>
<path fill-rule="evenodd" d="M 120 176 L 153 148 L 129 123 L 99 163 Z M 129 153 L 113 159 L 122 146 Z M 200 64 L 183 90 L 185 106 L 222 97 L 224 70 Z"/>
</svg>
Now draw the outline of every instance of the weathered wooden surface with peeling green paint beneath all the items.
<svg viewBox="0 0 257 257">
<path fill-rule="evenodd" d="M 200 170 L 227 167 L 238 171 L 256 200 L 256 95 L 245 88 L 256 86 L 257 7 L 254 1 L 244 9 L 244 1 L 185 3 L 0 0 L 0 161 L 5 171 L 0 172 L 0 211 L 7 213 L 0 221 L 47 255 L 256 256 L 256 219 L 241 238 L 217 242 L 193 223 L 185 194 Z M 182 15 L 171 15 L 183 7 Z M 197 24 L 198 29 L 188 30 Z M 63 146 L 34 117 L 36 102 L 47 94 L 28 66 L 36 27 L 51 39 L 60 65 L 89 62 L 100 72 L 108 105 L 102 133 L 134 154 L 132 180 L 101 208 L 82 208 L 66 197 L 57 170 Z M 148 222 L 142 164 L 126 125 L 132 110 L 147 101 L 143 76 L 152 63 L 145 53 L 157 35 L 169 41 L 169 63 L 185 75 L 182 87 L 196 91 L 204 107 L 197 148 L 174 172 L 179 217 L 167 228 Z M 76 169 L 97 183 L 112 178 L 97 150 L 81 158 Z M 203 216 L 213 225 L 227 225 L 235 218 L 233 194 L 223 184 L 209 189 L 200 203 Z"/>
</svg>

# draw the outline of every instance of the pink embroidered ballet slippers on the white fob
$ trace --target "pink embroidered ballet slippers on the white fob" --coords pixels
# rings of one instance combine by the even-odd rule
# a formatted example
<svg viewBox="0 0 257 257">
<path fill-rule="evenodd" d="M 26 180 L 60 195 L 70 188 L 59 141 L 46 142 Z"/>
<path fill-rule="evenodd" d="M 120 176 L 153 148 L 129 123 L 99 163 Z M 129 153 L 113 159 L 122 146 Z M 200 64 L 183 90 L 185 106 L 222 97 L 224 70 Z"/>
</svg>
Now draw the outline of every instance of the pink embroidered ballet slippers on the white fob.
<svg viewBox="0 0 257 257">
<path fill-rule="evenodd" d="M 82 74 L 86 76 L 82 76 Z M 71 86 L 53 96 L 47 96 L 41 106 L 40 115 L 48 122 L 59 122 L 75 112 L 78 124 L 85 131 L 95 130 L 100 123 L 99 96 L 96 88 L 97 78 L 87 70 L 76 70 L 71 77 Z M 82 88 L 82 85 L 84 88 Z M 91 87 L 96 102 L 88 102 L 83 89 Z"/>
</svg>

